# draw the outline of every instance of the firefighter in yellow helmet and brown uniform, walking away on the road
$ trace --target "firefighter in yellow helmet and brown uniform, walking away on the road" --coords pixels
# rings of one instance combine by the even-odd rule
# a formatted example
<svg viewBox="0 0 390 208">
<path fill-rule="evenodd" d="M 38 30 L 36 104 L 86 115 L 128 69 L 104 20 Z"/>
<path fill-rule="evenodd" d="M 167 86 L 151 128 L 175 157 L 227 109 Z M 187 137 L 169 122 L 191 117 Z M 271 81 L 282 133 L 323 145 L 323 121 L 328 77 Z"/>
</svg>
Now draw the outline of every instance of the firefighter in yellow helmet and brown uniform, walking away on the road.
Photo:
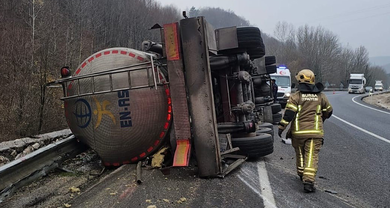
<svg viewBox="0 0 390 208">
<path fill-rule="evenodd" d="M 324 86 L 315 84 L 314 73 L 309 69 L 301 70 L 296 76 L 298 91 L 294 92 L 285 107 L 283 119 L 279 123 L 279 137 L 291 123 L 286 137 L 296 153 L 298 176 L 303 181 L 305 192 L 315 192 L 318 153 L 323 145 L 323 122 L 332 116 L 332 106 L 321 92 Z"/>
</svg>

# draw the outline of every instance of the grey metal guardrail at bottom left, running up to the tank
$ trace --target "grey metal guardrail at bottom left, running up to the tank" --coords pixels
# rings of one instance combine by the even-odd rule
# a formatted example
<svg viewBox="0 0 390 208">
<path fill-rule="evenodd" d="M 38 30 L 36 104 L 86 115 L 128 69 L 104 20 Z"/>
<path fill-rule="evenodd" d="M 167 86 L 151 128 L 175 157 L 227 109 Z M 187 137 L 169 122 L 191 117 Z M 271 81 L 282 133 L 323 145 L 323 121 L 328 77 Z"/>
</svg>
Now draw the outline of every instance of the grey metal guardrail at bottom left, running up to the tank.
<svg viewBox="0 0 390 208">
<path fill-rule="evenodd" d="M 18 188 L 45 176 L 62 162 L 85 151 L 87 147 L 74 135 L 49 144 L 0 167 L 0 203 Z"/>
</svg>

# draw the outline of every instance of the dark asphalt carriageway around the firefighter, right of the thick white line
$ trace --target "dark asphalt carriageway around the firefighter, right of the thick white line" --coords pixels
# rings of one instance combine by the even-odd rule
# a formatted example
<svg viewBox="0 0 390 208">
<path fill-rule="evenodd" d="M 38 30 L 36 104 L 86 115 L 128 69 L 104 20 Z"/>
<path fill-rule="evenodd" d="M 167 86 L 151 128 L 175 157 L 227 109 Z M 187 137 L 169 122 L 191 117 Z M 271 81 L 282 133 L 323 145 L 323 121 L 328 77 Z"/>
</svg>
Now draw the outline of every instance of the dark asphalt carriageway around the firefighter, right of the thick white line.
<svg viewBox="0 0 390 208">
<path fill-rule="evenodd" d="M 264 160 L 276 206 L 390 207 L 390 143 L 376 137 L 390 139 L 390 114 L 371 109 L 388 112 L 363 103 L 360 97 L 355 101 L 371 108 L 356 104 L 352 99 L 358 94 L 325 94 L 333 106 L 333 115 L 371 134 L 333 116 L 324 123 L 324 146 L 319 157 L 315 194 L 302 194 L 300 182 L 294 180 L 293 148 L 275 140 L 275 152 Z M 334 190 L 337 194 L 324 190 Z"/>
</svg>

